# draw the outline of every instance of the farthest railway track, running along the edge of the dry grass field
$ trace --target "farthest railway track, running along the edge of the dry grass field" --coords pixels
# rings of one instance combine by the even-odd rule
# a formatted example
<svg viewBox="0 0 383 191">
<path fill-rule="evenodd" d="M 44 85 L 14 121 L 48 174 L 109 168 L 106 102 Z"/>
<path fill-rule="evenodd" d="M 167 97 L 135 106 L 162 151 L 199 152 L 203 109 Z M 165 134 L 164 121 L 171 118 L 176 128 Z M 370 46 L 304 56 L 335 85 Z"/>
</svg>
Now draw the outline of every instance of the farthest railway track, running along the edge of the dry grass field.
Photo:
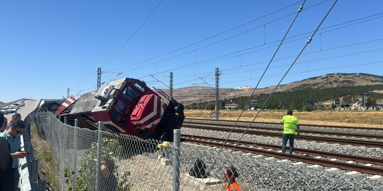
<svg viewBox="0 0 383 191">
<path fill-rule="evenodd" d="M 232 122 L 235 123 L 236 121 L 233 120 L 214 120 L 214 119 L 198 119 L 198 118 L 185 118 L 185 120 L 201 120 L 201 121 L 224 121 L 224 122 Z M 185 121 L 186 122 L 186 121 Z M 238 121 L 239 123 L 250 123 L 251 121 Z M 254 121 L 254 124 L 272 124 L 272 125 L 280 125 L 280 123 L 275 122 L 260 122 L 260 121 Z M 300 126 L 311 126 L 311 127 L 328 127 L 328 128 L 341 128 L 341 129 L 365 129 L 365 130 L 376 130 L 376 131 L 383 131 L 383 128 L 378 127 L 358 127 L 358 126 L 337 126 L 337 125 L 313 125 L 313 124 L 300 124 Z"/>
</svg>

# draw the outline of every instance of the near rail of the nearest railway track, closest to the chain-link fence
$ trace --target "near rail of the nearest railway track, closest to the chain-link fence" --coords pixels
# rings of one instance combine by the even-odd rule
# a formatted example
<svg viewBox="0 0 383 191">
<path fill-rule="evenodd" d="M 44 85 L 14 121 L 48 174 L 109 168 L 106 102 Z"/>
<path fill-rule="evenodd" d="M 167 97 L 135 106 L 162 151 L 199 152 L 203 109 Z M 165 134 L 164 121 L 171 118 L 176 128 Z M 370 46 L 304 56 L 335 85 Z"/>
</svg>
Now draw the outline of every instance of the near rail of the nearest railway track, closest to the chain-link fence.
<svg viewBox="0 0 383 191">
<path fill-rule="evenodd" d="M 223 145 L 223 143 L 218 143 L 218 142 L 202 141 L 197 139 L 186 139 L 186 141 L 196 143 L 196 144 L 206 145 L 206 146 L 224 147 L 226 149 L 234 148 L 234 145 L 228 145 L 228 144 Z M 304 157 L 300 155 L 290 155 L 290 154 L 285 154 L 282 152 L 260 150 L 260 149 L 254 149 L 254 148 L 249 148 L 244 146 L 236 146 L 234 150 L 253 153 L 253 154 L 259 154 L 259 155 L 265 155 L 269 157 L 277 157 L 280 159 L 288 159 L 288 160 L 294 160 L 294 161 L 305 162 L 310 164 L 322 165 L 326 167 L 358 171 L 358 172 L 374 174 L 374 175 L 381 175 L 383 173 L 383 168 L 378 168 L 378 167 L 350 164 L 350 163 L 337 162 L 337 161 L 325 160 L 325 159 L 316 159 L 316 158 Z"/>
</svg>

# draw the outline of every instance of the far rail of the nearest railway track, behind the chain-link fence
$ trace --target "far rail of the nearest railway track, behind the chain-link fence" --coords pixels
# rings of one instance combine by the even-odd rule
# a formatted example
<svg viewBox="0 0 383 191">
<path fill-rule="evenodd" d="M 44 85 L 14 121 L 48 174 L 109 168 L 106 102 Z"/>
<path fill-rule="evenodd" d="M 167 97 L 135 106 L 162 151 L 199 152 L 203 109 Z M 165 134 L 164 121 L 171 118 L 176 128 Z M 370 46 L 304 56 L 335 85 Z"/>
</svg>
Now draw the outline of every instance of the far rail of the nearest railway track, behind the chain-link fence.
<svg viewBox="0 0 383 191">
<path fill-rule="evenodd" d="M 226 139 L 222 138 L 213 138 L 213 137 L 205 137 L 205 136 L 197 136 L 197 135 L 188 135 L 188 134 L 182 134 L 181 137 L 183 138 L 194 138 L 194 139 L 203 139 L 207 141 L 219 141 L 224 142 Z M 236 144 L 237 140 L 229 139 L 228 143 Z M 246 146 L 257 146 L 267 149 L 275 149 L 275 150 L 282 150 L 282 147 L 280 145 L 274 145 L 274 144 L 264 144 L 259 142 L 250 142 L 250 141 L 240 141 L 238 142 L 239 145 L 246 145 Z M 286 150 L 288 150 L 289 147 L 286 146 Z M 383 159 L 378 158 L 372 158 L 372 157 L 362 157 L 357 155 L 347 155 L 347 154 L 340 154 L 340 153 L 334 153 L 334 152 L 326 152 L 326 151 L 317 151 L 317 150 L 311 150 L 311 149 L 301 149 L 294 147 L 294 152 L 302 153 L 302 154 L 311 154 L 316 156 L 322 156 L 322 157 L 331 157 L 336 159 L 342 159 L 342 160 L 352 160 L 355 162 L 364 162 L 364 163 L 373 163 L 375 165 L 383 165 Z"/>
</svg>

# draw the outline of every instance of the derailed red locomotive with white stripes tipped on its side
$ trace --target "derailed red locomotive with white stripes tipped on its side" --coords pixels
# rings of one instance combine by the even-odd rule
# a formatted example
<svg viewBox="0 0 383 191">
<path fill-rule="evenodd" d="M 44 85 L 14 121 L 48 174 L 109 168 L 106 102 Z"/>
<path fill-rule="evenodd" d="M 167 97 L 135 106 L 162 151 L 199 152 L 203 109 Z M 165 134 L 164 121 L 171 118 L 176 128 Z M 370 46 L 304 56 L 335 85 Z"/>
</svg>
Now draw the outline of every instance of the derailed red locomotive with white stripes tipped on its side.
<svg viewBox="0 0 383 191">
<path fill-rule="evenodd" d="M 103 129 L 111 133 L 172 142 L 173 129 L 180 129 L 185 118 L 184 107 L 161 94 L 166 101 L 144 82 L 123 78 L 78 99 L 71 95 L 55 116 L 67 116 L 69 125 L 78 119 L 80 128 L 98 129 L 97 122 L 103 121 Z"/>
</svg>

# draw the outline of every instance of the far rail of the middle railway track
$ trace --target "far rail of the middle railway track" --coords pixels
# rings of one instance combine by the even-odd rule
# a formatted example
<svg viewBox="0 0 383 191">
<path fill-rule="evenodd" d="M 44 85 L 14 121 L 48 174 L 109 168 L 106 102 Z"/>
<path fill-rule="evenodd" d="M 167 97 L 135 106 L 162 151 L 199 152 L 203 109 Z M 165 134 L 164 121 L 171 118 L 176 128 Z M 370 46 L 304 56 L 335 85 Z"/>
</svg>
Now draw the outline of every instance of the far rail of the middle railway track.
<svg viewBox="0 0 383 191">
<path fill-rule="evenodd" d="M 201 122 L 184 122 L 183 124 L 198 124 L 198 125 L 216 125 L 216 126 L 227 126 L 232 127 L 232 125 L 218 124 L 218 123 L 201 123 Z M 248 126 L 236 125 L 239 128 L 247 128 Z M 250 126 L 250 129 L 265 129 L 271 131 L 283 131 L 283 128 L 273 128 L 273 127 L 261 127 L 261 126 Z M 347 137 L 358 137 L 358 138 L 370 138 L 370 139 L 383 139 L 383 135 L 378 134 L 355 134 L 355 133 L 340 133 L 340 132 L 329 132 L 329 131 L 309 131 L 309 130 L 300 130 L 300 133 L 310 133 L 310 134 L 326 134 L 334 136 L 347 136 Z"/>
</svg>

